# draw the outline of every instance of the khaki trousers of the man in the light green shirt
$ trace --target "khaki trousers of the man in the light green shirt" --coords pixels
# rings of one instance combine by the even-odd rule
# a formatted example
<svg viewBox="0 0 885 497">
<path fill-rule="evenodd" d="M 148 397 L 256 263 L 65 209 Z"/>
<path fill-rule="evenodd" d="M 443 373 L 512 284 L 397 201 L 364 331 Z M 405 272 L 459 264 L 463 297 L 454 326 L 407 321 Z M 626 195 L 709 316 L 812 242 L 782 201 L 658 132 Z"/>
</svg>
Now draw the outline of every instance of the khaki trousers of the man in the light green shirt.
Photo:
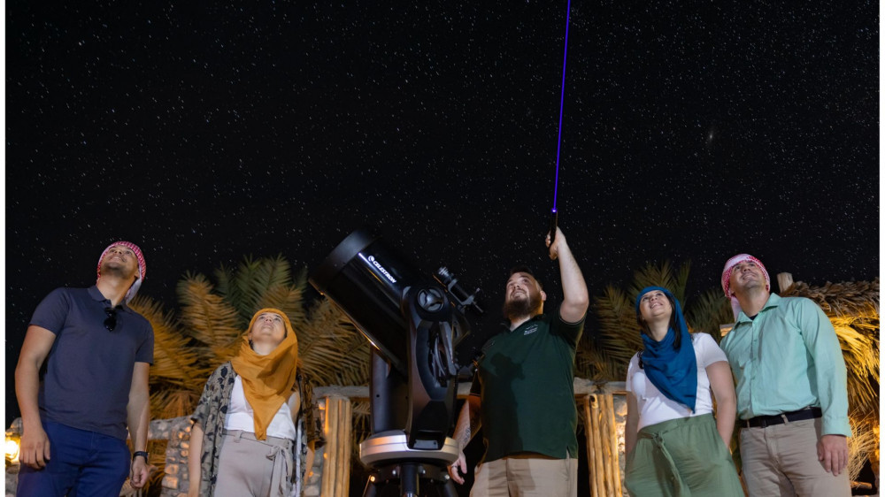
<svg viewBox="0 0 885 497">
<path fill-rule="evenodd" d="M 743 480 L 750 497 L 848 497 L 848 473 L 838 477 L 818 461 L 820 418 L 741 429 Z"/>
</svg>

